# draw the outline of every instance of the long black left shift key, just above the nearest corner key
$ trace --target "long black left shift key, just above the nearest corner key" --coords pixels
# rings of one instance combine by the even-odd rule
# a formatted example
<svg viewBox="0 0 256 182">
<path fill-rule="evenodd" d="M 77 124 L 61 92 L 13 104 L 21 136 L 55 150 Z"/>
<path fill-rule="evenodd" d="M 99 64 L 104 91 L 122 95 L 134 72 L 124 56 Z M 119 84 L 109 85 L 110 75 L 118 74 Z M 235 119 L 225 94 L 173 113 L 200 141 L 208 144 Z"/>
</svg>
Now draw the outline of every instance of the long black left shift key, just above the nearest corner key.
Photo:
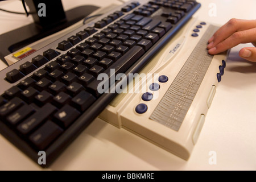
<svg viewBox="0 0 256 182">
<path fill-rule="evenodd" d="M 44 121 L 46 121 L 49 115 L 54 113 L 56 110 L 57 108 L 49 103 L 44 105 L 41 109 L 36 111 L 36 113 L 31 115 L 24 122 L 20 123 L 20 125 L 17 127 L 17 130 L 21 134 L 27 135 Z"/>
</svg>

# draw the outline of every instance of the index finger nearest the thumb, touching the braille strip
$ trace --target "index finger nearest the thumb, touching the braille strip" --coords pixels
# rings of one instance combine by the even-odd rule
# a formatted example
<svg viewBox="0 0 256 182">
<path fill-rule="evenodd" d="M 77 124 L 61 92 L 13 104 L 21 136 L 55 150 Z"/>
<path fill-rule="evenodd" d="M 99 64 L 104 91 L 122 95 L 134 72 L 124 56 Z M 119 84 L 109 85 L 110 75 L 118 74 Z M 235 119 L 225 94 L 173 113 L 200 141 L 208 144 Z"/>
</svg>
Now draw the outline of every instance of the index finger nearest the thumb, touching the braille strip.
<svg viewBox="0 0 256 182">
<path fill-rule="evenodd" d="M 256 28 L 249 30 L 235 32 L 229 38 L 218 43 L 215 47 L 208 50 L 209 54 L 215 55 L 220 52 L 224 52 L 232 47 L 237 46 L 240 43 L 256 42 Z"/>
</svg>

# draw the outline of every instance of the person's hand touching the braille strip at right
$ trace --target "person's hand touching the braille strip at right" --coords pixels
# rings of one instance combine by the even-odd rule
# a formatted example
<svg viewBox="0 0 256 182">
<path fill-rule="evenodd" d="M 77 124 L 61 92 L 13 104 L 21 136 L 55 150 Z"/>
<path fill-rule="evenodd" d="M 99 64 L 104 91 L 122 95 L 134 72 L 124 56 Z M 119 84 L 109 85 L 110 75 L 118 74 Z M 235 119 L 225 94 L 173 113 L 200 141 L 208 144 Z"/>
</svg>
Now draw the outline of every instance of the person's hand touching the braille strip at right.
<svg viewBox="0 0 256 182">
<path fill-rule="evenodd" d="M 208 40 L 208 53 L 216 55 L 240 43 L 253 43 L 256 47 L 256 20 L 230 19 Z M 246 60 L 256 62 L 256 48 L 245 47 L 239 55 Z"/>
</svg>

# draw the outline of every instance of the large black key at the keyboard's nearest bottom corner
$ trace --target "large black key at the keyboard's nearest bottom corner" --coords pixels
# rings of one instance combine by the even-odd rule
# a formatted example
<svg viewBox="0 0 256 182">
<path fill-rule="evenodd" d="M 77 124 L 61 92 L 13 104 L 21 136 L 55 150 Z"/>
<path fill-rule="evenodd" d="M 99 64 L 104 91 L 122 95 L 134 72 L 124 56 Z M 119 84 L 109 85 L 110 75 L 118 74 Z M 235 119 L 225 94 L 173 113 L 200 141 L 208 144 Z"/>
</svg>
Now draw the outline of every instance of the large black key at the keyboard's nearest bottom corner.
<svg viewBox="0 0 256 182">
<path fill-rule="evenodd" d="M 53 142 L 59 135 L 63 132 L 58 125 L 51 121 L 47 121 L 36 130 L 31 136 L 30 141 L 38 148 L 39 150 L 44 150 L 49 144 Z"/>
</svg>

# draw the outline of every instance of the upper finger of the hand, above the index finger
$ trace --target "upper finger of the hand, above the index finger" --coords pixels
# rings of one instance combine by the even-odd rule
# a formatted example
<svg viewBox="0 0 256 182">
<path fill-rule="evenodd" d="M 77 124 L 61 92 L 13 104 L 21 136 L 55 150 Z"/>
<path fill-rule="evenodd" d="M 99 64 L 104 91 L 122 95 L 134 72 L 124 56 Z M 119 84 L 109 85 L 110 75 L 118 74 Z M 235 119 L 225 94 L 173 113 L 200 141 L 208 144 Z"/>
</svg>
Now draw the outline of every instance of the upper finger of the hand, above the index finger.
<svg viewBox="0 0 256 182">
<path fill-rule="evenodd" d="M 209 39 L 207 48 L 215 47 L 218 43 L 237 31 L 248 30 L 254 27 L 256 27 L 256 20 L 230 19 L 229 22 L 219 28 L 212 38 Z"/>
</svg>

